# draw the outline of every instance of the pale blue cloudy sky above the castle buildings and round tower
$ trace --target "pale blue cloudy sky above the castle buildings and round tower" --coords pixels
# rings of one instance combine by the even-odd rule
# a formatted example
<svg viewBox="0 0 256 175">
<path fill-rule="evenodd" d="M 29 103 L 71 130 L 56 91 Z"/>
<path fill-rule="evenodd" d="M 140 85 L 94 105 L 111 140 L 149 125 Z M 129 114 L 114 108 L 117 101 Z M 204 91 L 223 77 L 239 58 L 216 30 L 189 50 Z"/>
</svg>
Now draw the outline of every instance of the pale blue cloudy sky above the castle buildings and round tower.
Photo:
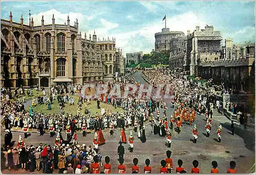
<svg viewBox="0 0 256 175">
<path fill-rule="evenodd" d="M 116 46 L 123 55 L 143 51 L 150 53 L 155 47 L 155 33 L 166 27 L 170 31 L 194 31 L 196 26 L 204 29 L 206 24 L 222 32 L 223 41 L 232 38 L 233 43 L 255 41 L 254 1 L 1 1 L 1 19 L 29 24 L 29 10 L 34 26 L 41 24 L 67 23 L 77 18 L 79 32 L 100 38 L 116 38 Z"/>
</svg>

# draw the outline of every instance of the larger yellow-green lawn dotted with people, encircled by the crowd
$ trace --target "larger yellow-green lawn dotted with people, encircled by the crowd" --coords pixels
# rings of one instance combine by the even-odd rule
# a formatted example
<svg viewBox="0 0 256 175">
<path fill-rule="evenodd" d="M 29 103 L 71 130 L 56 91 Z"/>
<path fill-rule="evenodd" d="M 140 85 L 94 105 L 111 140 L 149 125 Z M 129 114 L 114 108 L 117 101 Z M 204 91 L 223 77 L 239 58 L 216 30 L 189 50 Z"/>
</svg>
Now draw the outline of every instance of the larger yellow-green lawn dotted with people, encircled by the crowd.
<svg viewBox="0 0 256 175">
<path fill-rule="evenodd" d="M 70 106 L 69 103 L 65 104 L 65 108 L 64 108 L 64 111 L 65 111 L 65 114 L 67 113 L 71 113 L 73 115 L 76 115 L 77 114 L 77 109 L 78 109 L 78 96 L 74 96 L 74 99 L 75 99 L 75 106 Z M 56 99 L 56 101 L 53 101 L 53 104 L 52 104 L 52 110 L 47 110 L 47 107 L 48 105 L 36 105 L 34 108 L 33 108 L 33 111 L 34 112 L 40 112 L 42 111 L 44 114 L 60 114 L 60 109 L 59 109 L 59 104 L 58 104 L 58 101 Z M 101 108 L 108 108 L 109 111 L 112 111 L 112 112 L 121 112 L 122 111 L 122 108 L 117 108 L 115 109 L 112 105 L 108 105 L 108 104 L 104 104 L 104 103 L 100 103 L 100 107 Z M 26 108 L 26 110 L 29 111 L 29 108 Z M 82 110 L 81 110 L 81 113 L 84 114 L 84 103 L 82 104 Z M 97 109 L 97 102 L 96 101 L 91 101 L 91 104 L 88 105 L 88 108 L 90 108 L 91 110 L 91 114 L 96 114 L 96 112 L 98 112 L 99 114 L 101 113 L 101 109 Z"/>
</svg>

